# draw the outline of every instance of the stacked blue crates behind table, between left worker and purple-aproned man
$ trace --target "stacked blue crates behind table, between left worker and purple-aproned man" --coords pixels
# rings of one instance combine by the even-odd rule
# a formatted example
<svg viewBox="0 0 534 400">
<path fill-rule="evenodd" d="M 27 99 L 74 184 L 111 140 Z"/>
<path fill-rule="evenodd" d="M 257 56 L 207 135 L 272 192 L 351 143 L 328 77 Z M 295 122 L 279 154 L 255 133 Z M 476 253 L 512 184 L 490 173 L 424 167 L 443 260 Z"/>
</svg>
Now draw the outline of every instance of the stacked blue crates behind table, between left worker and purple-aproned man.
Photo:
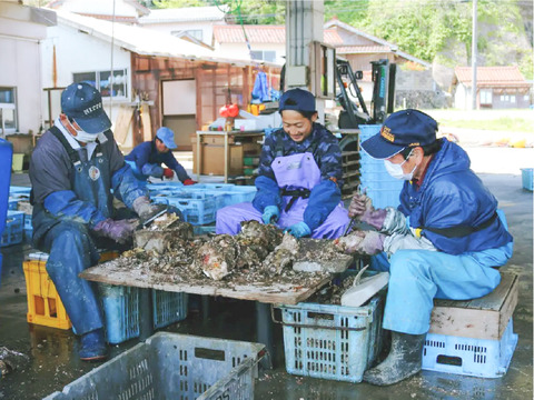
<svg viewBox="0 0 534 400">
<path fill-rule="evenodd" d="M 181 211 L 184 219 L 194 226 L 195 234 L 215 232 L 217 211 L 222 207 L 253 201 L 254 186 L 233 183 L 181 183 L 148 184 L 150 198 L 156 203 L 174 206 Z"/>
</svg>

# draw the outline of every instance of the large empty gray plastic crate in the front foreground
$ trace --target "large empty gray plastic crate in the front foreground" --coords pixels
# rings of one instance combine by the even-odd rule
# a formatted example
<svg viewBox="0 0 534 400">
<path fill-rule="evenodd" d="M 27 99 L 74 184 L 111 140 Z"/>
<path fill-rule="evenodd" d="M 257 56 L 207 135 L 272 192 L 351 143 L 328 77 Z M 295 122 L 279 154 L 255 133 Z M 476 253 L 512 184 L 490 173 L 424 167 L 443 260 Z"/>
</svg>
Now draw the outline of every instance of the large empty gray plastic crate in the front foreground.
<svg viewBox="0 0 534 400">
<path fill-rule="evenodd" d="M 44 400 L 254 399 L 265 347 L 159 332 Z"/>
</svg>

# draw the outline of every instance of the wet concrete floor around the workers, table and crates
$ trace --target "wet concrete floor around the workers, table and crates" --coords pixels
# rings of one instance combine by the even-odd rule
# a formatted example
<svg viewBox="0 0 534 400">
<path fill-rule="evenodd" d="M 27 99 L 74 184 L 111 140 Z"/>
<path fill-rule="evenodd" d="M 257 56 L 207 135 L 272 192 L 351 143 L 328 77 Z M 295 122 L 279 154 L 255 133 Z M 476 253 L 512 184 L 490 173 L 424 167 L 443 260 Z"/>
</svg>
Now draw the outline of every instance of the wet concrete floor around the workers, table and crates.
<svg viewBox="0 0 534 400">
<path fill-rule="evenodd" d="M 532 161 L 532 159 L 531 159 Z M 514 312 L 517 349 L 507 373 L 500 379 L 479 379 L 423 371 L 389 388 L 345 383 L 288 374 L 284 367 L 281 328 L 275 329 L 277 366 L 260 371 L 256 399 L 510 399 L 533 398 L 533 196 L 522 189 L 521 176 L 481 174 L 505 211 L 515 238 L 514 257 L 506 271 L 521 276 L 518 306 Z M 13 174 L 11 184 L 29 186 L 27 174 Z M 0 379 L 0 399 L 41 399 L 90 371 L 97 363 L 78 360 L 78 342 L 69 331 L 31 326 L 26 321 L 27 298 L 22 260 L 31 251 L 28 243 L 1 248 L 0 347 L 29 356 L 17 371 Z M 208 320 L 198 313 L 167 331 L 225 339 L 255 341 L 255 307 L 246 301 L 210 300 Z M 130 340 L 111 349 L 111 356 L 136 344 Z"/>
</svg>

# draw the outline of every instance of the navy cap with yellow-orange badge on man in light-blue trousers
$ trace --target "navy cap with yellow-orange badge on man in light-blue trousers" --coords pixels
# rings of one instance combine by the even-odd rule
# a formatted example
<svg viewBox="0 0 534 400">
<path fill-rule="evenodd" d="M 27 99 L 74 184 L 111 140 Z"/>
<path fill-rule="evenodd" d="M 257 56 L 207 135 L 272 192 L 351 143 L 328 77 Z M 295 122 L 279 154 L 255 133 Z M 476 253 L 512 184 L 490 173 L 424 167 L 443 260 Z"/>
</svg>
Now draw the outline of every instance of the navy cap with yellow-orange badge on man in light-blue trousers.
<svg viewBox="0 0 534 400">
<path fill-rule="evenodd" d="M 386 118 L 380 132 L 362 143 L 370 157 L 384 160 L 407 147 L 427 146 L 436 141 L 437 122 L 426 113 L 407 109 Z"/>
</svg>

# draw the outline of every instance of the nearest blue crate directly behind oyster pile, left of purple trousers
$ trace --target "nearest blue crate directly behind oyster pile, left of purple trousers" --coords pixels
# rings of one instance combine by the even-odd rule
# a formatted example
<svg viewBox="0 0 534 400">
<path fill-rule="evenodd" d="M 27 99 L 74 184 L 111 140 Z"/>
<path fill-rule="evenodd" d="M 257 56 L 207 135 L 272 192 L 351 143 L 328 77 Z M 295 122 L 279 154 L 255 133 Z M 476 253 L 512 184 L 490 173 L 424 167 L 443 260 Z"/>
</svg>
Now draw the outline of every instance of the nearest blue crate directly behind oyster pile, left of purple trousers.
<svg viewBox="0 0 534 400">
<path fill-rule="evenodd" d="M 184 214 L 186 222 L 191 224 L 215 222 L 217 200 L 214 196 L 207 193 L 182 191 L 178 194 L 175 193 L 172 197 L 156 197 L 154 202 L 176 207 Z"/>
</svg>

